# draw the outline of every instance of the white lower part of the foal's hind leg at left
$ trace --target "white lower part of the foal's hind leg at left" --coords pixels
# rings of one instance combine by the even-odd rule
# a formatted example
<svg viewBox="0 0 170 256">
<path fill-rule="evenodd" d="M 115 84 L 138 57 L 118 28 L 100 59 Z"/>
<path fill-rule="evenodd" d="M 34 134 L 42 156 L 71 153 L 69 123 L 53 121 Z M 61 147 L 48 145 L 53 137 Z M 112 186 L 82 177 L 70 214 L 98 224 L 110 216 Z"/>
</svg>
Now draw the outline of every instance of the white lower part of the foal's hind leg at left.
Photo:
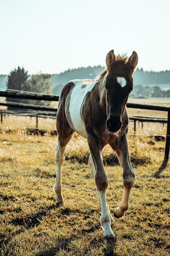
<svg viewBox="0 0 170 256">
<path fill-rule="evenodd" d="M 56 193 L 56 203 L 64 202 L 62 197 L 61 169 L 66 156 L 66 147 L 60 147 L 59 142 L 55 148 L 55 162 L 57 167 L 56 180 L 53 190 Z"/>
</svg>

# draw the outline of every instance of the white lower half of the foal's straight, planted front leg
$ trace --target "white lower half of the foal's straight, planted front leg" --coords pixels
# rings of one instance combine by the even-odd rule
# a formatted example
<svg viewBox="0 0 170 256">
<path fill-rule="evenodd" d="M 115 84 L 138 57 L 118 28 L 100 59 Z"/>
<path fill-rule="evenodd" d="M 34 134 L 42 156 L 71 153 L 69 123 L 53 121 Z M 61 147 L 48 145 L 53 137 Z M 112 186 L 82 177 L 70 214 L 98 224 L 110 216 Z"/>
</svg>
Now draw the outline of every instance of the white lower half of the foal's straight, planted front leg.
<svg viewBox="0 0 170 256">
<path fill-rule="evenodd" d="M 101 201 L 101 225 L 104 228 L 104 237 L 115 237 L 110 227 L 110 216 L 106 203 L 106 190 L 99 191 L 99 196 Z"/>
</svg>

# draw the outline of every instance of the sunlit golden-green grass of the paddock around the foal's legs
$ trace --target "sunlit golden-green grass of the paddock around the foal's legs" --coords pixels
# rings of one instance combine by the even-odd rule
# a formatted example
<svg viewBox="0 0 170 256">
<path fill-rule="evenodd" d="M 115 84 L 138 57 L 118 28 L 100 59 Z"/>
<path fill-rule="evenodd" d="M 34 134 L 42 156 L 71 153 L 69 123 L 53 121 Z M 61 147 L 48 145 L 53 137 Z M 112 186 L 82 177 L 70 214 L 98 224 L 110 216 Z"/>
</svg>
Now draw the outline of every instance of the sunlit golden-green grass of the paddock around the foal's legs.
<svg viewBox="0 0 170 256">
<path fill-rule="evenodd" d="M 65 205 L 56 207 L 57 137 L 26 132 L 0 130 L 0 255 L 170 254 L 170 163 L 161 178 L 152 176 L 163 161 L 165 142 L 154 136 L 128 136 L 136 180 L 130 209 L 112 224 L 113 242 L 103 238 L 86 140 L 75 135 L 68 144 L 62 172 Z M 122 171 L 108 146 L 103 160 L 113 215 L 122 198 Z"/>
</svg>

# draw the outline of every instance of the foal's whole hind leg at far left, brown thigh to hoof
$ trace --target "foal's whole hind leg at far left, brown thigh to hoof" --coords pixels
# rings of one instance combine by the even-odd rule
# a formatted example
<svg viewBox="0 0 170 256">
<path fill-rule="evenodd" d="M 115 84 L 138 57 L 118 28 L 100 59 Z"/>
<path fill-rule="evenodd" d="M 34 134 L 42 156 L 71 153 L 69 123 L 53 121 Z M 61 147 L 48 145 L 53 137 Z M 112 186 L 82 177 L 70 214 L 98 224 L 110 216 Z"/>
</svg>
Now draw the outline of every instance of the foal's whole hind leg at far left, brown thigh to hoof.
<svg viewBox="0 0 170 256">
<path fill-rule="evenodd" d="M 64 120 L 64 121 L 63 121 Z M 55 162 L 57 167 L 56 180 L 53 190 L 56 194 L 56 204 L 64 202 L 62 197 L 62 183 L 61 183 L 61 172 L 64 159 L 66 157 L 66 145 L 74 134 L 73 129 L 69 126 L 66 119 L 62 119 L 60 122 L 57 120 L 57 132 L 58 132 L 58 144 L 55 148 Z"/>
</svg>

